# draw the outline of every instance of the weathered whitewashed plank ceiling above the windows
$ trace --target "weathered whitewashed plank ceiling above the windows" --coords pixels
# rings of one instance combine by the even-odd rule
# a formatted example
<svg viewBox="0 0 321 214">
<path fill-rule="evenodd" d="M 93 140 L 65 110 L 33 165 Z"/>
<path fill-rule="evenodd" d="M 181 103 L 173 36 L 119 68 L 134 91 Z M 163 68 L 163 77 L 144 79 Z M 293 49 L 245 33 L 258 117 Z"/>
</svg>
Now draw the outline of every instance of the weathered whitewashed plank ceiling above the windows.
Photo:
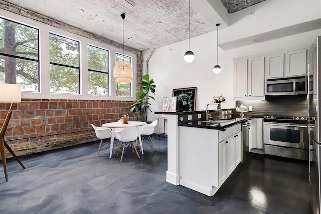
<svg viewBox="0 0 321 214">
<path fill-rule="evenodd" d="M 134 8 L 128 1 L 134 5 Z M 6 0 L 84 31 L 122 44 L 122 18 L 125 45 L 148 50 L 188 39 L 188 0 Z M 225 2 L 226 7 L 234 7 Z M 245 0 L 230 0 L 242 1 Z M 262 0 L 247 0 L 262 1 Z M 245 5 L 248 7 L 250 5 Z M 240 10 L 240 9 L 239 9 Z M 191 37 L 215 30 L 191 7 Z"/>
</svg>

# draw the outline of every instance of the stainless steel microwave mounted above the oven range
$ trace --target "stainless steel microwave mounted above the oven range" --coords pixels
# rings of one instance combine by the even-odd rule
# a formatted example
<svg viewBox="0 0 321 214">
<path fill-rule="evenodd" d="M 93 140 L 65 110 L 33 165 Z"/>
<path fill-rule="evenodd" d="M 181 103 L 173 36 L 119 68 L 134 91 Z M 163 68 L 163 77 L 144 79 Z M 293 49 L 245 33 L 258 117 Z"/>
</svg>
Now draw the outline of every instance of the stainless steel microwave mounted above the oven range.
<svg viewBox="0 0 321 214">
<path fill-rule="evenodd" d="M 266 79 L 265 95 L 280 96 L 307 94 L 308 81 L 310 80 L 307 75 Z M 313 85 L 311 81 L 310 85 Z M 313 93 L 313 86 L 311 87 L 309 93 Z"/>
</svg>

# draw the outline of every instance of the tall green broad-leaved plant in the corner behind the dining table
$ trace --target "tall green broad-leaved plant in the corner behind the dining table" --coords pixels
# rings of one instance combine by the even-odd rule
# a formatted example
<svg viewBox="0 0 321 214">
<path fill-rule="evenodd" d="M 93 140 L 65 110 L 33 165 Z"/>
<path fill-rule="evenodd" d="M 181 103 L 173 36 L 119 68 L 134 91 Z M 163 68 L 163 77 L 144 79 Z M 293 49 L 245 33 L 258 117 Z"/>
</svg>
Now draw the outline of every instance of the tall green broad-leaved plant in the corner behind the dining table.
<svg viewBox="0 0 321 214">
<path fill-rule="evenodd" d="M 137 109 L 141 110 L 142 120 L 147 121 L 147 110 L 150 110 L 151 112 L 149 99 L 155 100 L 153 96 L 149 95 L 149 92 L 155 94 L 156 85 L 154 84 L 154 80 L 150 79 L 148 74 L 142 76 L 142 79 L 143 80 L 140 82 L 141 90 L 135 91 L 135 94 L 138 94 L 137 102 L 128 106 L 128 108 L 130 108 L 129 113 L 136 112 Z"/>
</svg>

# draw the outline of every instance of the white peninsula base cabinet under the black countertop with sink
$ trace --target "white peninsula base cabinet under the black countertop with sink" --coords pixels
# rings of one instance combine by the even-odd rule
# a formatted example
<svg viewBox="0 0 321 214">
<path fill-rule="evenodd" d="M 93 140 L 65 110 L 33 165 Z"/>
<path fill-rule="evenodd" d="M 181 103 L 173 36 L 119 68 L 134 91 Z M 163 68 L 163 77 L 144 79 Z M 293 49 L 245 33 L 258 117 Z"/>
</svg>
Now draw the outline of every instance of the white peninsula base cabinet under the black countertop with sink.
<svg viewBox="0 0 321 214">
<path fill-rule="evenodd" d="M 241 161 L 241 124 L 223 130 L 179 126 L 179 184 L 213 196 Z"/>
</svg>

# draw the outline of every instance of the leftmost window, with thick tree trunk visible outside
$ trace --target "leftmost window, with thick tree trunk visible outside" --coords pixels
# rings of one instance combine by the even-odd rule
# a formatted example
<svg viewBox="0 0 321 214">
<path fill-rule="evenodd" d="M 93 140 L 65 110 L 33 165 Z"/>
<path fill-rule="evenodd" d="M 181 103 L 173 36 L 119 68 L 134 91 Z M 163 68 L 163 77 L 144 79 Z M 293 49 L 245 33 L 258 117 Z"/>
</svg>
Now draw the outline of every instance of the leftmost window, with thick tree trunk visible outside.
<svg viewBox="0 0 321 214">
<path fill-rule="evenodd" d="M 0 82 L 39 92 L 38 29 L 0 18 Z"/>
</svg>

